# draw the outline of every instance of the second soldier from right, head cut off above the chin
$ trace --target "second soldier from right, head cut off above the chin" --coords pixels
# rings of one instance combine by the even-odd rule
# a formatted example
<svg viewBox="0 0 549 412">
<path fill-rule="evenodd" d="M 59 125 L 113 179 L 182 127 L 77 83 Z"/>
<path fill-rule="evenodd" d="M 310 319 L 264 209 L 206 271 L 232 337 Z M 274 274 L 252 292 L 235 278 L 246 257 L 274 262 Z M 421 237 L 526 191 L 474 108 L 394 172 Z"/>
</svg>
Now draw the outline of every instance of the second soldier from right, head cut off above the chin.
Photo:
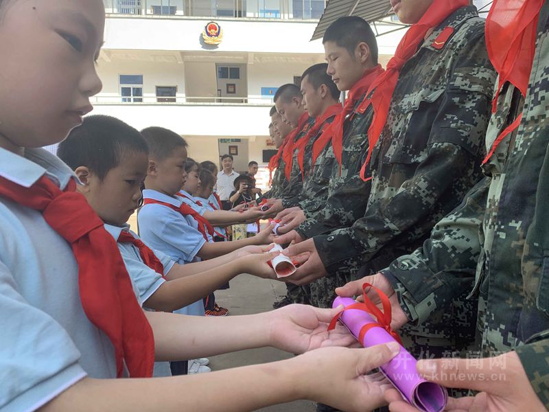
<svg viewBox="0 0 549 412">
<path fill-rule="evenodd" d="M 395 12 L 413 25 L 364 102 L 375 112 L 366 213 L 351 227 L 290 247 L 290 254 L 312 253 L 292 276 L 299 284 L 327 273 L 357 279 L 361 266 L 365 274 L 385 268 L 417 249 L 480 180 L 495 81 L 484 19 L 466 0 L 402 1 Z M 473 304 L 464 297 L 463 316 L 472 316 Z M 406 346 L 418 357 L 463 350 L 474 336 L 471 323 L 407 326 L 414 338 Z"/>
</svg>

